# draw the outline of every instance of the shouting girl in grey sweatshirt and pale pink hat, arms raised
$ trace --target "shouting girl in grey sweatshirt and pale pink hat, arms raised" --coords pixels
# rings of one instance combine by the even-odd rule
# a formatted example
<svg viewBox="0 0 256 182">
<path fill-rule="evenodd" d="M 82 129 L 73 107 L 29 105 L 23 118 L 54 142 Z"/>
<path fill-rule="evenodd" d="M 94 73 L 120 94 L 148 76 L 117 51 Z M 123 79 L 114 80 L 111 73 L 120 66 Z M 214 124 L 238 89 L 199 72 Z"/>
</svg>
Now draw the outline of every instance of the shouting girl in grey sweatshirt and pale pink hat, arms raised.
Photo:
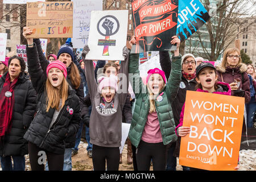
<svg viewBox="0 0 256 182">
<path fill-rule="evenodd" d="M 122 139 L 122 109 L 125 105 L 128 88 L 129 50 L 123 48 L 125 61 L 121 63 L 117 84 L 117 76 L 99 77 L 98 84 L 94 78 L 93 61 L 85 60 L 89 47 L 82 51 L 85 61 L 85 76 L 88 84 L 90 100 L 92 101 L 92 114 L 90 115 L 90 143 L 93 144 L 92 159 L 94 171 L 118 171 L 119 147 Z M 122 86 L 122 90 L 119 86 Z"/>
</svg>

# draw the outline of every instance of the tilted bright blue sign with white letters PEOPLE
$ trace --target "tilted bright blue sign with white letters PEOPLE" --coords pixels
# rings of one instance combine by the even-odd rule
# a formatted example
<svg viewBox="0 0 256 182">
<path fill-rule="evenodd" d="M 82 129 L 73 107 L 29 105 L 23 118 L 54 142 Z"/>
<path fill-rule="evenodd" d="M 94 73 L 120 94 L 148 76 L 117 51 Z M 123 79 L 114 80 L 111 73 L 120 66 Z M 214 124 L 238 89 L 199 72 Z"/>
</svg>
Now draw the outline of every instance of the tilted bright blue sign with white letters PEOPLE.
<svg viewBox="0 0 256 182">
<path fill-rule="evenodd" d="M 179 0 L 179 14 L 177 18 L 177 36 L 180 42 L 188 39 L 210 16 L 199 0 Z"/>
</svg>

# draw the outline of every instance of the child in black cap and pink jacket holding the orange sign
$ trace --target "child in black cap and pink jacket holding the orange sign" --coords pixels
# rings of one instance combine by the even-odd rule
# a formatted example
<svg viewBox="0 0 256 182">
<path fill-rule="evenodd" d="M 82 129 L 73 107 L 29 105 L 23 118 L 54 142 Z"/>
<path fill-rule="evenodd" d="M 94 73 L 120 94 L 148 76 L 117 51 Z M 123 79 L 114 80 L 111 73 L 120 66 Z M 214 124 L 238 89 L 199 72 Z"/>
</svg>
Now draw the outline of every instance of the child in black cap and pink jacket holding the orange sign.
<svg viewBox="0 0 256 182">
<path fill-rule="evenodd" d="M 201 63 L 196 68 L 196 81 L 197 92 L 224 94 L 227 96 L 231 95 L 230 85 L 225 82 L 218 82 L 216 68 L 210 63 Z M 183 105 L 182 111 L 180 113 L 180 123 L 175 128 L 175 132 L 179 137 L 185 137 L 191 131 L 190 127 L 183 126 L 184 110 L 185 104 Z M 238 169 L 238 166 L 235 169 Z M 190 167 L 190 170 L 195 171 L 199 169 Z"/>
</svg>

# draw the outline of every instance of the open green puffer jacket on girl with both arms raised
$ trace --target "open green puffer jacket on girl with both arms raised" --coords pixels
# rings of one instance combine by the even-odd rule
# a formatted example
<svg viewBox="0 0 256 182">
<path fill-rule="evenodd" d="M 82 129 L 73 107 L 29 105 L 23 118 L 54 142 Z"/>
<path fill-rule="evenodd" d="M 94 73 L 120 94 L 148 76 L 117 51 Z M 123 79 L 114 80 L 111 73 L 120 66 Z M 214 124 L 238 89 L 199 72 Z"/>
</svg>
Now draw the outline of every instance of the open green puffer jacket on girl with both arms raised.
<svg viewBox="0 0 256 182">
<path fill-rule="evenodd" d="M 169 54 L 171 54 L 169 52 Z M 139 76 L 139 54 L 130 54 L 129 61 L 129 80 L 133 84 L 136 102 L 129 131 L 131 143 L 137 148 L 141 142 L 144 126 L 147 121 L 147 115 L 150 109 L 150 102 L 146 86 L 143 85 Z M 174 115 L 172 114 L 171 102 L 175 100 L 181 81 L 181 56 L 172 56 L 171 74 L 166 86 L 159 93 L 163 92 L 163 100 L 155 100 L 156 113 L 162 133 L 163 144 L 177 140 L 175 134 Z M 156 97 L 157 98 L 157 97 Z"/>
</svg>

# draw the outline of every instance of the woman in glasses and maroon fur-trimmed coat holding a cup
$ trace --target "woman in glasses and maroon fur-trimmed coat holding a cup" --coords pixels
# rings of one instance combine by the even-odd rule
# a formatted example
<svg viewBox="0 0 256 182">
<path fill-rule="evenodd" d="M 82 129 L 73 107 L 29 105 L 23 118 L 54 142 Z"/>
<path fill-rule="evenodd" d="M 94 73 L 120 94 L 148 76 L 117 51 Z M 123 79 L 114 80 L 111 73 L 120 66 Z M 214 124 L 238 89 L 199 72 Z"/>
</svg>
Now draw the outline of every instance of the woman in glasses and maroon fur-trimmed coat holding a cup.
<svg viewBox="0 0 256 182">
<path fill-rule="evenodd" d="M 250 102 L 250 82 L 247 66 L 242 63 L 240 51 L 229 48 L 224 52 L 221 64 L 216 66 L 218 81 L 227 82 L 231 86 L 232 96 L 245 97 Z"/>
</svg>

